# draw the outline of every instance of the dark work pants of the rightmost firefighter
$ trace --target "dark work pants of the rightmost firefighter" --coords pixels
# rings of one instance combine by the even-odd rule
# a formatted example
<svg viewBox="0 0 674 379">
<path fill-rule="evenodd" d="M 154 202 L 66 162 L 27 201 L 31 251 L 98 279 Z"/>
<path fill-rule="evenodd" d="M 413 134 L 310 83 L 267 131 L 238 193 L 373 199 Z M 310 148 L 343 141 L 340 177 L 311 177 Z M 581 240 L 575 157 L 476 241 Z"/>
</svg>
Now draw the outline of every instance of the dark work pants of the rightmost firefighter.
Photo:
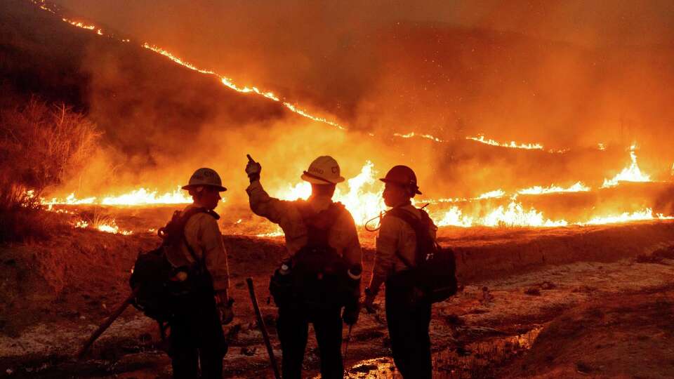
<svg viewBox="0 0 674 379">
<path fill-rule="evenodd" d="M 414 301 L 411 288 L 386 286 L 386 321 L 393 361 L 403 378 L 430 379 L 431 303 Z"/>
</svg>

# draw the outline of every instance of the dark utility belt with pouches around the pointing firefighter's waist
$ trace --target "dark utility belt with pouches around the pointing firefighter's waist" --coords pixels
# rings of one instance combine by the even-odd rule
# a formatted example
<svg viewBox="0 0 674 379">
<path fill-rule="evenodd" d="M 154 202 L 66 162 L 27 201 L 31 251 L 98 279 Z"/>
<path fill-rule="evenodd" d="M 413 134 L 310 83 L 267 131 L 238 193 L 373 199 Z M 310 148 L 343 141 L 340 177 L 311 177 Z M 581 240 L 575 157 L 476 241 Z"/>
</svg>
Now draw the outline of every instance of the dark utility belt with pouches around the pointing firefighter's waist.
<svg viewBox="0 0 674 379">
<path fill-rule="evenodd" d="M 277 307 L 310 311 L 357 305 L 360 271 L 352 268 L 312 278 L 293 270 L 293 262 L 285 260 L 272 275 L 269 291 Z"/>
</svg>

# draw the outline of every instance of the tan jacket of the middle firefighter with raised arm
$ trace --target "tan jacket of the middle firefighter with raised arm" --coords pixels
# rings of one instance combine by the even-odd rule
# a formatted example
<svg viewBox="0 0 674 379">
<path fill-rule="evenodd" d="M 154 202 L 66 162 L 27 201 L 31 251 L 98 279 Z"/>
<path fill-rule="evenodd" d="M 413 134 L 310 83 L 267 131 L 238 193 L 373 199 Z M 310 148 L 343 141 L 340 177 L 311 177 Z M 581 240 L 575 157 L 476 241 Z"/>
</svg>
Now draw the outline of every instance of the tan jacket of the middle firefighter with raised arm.
<svg viewBox="0 0 674 379">
<path fill-rule="evenodd" d="M 284 201 L 270 197 L 259 180 L 251 183 L 246 188 L 246 192 L 248 192 L 253 213 L 281 227 L 286 237 L 286 249 L 289 255 L 294 255 L 307 244 L 308 231 L 298 209 L 299 201 Z M 307 201 L 316 212 L 323 211 L 332 204 L 330 197 L 312 196 Z M 362 265 L 358 233 L 350 213 L 343 212 L 332 225 L 328 234 L 328 244 L 342 256 L 348 267 Z"/>
</svg>

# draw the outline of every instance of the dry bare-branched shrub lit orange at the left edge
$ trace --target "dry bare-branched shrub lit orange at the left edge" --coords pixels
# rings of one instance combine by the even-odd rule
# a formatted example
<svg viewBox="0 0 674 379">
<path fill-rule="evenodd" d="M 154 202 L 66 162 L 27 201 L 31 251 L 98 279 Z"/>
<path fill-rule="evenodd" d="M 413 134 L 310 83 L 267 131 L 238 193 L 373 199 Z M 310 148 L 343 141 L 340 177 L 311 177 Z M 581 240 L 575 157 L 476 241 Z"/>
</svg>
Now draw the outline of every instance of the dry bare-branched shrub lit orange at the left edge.
<svg viewBox="0 0 674 379">
<path fill-rule="evenodd" d="M 0 241 L 48 234 L 40 212 L 45 189 L 86 163 L 100 133 L 84 115 L 35 98 L 0 109 Z"/>
</svg>

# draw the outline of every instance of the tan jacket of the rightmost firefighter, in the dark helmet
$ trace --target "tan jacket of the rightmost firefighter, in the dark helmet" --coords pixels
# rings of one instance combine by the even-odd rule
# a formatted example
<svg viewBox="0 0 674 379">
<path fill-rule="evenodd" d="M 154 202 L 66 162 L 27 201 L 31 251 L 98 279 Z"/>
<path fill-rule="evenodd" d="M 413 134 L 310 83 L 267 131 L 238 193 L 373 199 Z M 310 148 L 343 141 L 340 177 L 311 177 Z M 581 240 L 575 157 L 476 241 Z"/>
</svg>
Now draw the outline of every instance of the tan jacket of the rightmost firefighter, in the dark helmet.
<svg viewBox="0 0 674 379">
<path fill-rule="evenodd" d="M 408 204 L 400 207 L 416 218 L 421 218 L 421 211 L 418 208 Z M 435 229 L 430 230 L 431 237 L 435 239 Z M 416 254 L 416 233 L 411 226 L 400 218 L 392 215 L 384 215 L 381 220 L 381 228 L 377 235 L 376 254 L 374 257 L 374 267 L 372 268 L 372 279 L 370 281 L 371 293 L 379 291 L 379 287 L 392 274 L 407 269 L 407 265 L 397 257 L 396 251 L 414 265 Z"/>
</svg>

